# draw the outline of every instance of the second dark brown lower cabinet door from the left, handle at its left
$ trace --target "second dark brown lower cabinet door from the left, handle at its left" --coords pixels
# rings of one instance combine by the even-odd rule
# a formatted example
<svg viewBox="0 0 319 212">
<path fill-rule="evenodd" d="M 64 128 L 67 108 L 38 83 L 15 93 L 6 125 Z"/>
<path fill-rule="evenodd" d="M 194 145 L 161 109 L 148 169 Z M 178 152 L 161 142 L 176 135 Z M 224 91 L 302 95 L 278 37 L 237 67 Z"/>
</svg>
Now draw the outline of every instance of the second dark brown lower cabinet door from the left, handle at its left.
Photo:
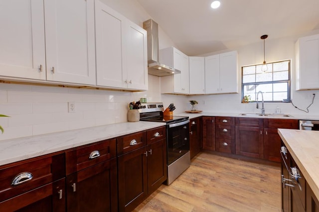
<svg viewBox="0 0 319 212">
<path fill-rule="evenodd" d="M 66 192 L 68 212 L 116 212 L 116 158 L 68 175 Z"/>
</svg>

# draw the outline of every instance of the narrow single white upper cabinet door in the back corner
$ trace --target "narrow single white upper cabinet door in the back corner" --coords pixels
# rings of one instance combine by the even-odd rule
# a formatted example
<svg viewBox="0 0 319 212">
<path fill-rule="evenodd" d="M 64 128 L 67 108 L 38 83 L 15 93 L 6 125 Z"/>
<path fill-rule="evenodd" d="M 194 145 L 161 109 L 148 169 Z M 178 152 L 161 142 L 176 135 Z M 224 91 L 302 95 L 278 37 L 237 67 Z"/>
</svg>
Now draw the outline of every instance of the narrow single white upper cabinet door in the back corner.
<svg viewBox="0 0 319 212">
<path fill-rule="evenodd" d="M 189 57 L 189 94 L 205 94 L 204 57 Z"/>
</svg>

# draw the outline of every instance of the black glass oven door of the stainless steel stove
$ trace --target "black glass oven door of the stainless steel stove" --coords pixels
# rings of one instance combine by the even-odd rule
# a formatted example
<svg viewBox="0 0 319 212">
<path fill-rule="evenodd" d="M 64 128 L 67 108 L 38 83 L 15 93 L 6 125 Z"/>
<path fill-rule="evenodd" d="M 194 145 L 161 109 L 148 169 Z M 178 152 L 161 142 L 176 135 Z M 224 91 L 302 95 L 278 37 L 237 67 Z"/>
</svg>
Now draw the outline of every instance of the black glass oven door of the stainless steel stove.
<svg viewBox="0 0 319 212">
<path fill-rule="evenodd" d="M 189 151 L 189 120 L 167 125 L 167 164 Z"/>
</svg>

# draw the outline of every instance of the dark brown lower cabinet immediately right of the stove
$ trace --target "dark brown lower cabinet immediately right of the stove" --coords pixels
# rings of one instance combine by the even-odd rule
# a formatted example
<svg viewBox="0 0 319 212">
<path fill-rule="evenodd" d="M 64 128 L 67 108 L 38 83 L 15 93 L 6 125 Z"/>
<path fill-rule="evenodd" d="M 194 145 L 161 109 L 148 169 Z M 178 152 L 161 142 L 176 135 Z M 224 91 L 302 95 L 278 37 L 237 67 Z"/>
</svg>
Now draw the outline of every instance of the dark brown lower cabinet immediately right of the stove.
<svg viewBox="0 0 319 212">
<path fill-rule="evenodd" d="M 189 149 L 190 159 L 198 154 L 201 150 L 201 118 L 189 120 Z"/>
</svg>

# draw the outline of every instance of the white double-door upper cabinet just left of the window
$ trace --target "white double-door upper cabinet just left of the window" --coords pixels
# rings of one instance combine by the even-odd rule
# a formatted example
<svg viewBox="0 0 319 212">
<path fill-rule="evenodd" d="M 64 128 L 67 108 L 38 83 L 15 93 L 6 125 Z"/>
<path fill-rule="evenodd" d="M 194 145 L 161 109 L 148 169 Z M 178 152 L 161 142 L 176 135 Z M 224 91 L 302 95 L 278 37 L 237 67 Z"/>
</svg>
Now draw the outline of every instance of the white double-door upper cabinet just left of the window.
<svg viewBox="0 0 319 212">
<path fill-rule="evenodd" d="M 205 57 L 205 93 L 238 93 L 236 51 Z"/>
</svg>

